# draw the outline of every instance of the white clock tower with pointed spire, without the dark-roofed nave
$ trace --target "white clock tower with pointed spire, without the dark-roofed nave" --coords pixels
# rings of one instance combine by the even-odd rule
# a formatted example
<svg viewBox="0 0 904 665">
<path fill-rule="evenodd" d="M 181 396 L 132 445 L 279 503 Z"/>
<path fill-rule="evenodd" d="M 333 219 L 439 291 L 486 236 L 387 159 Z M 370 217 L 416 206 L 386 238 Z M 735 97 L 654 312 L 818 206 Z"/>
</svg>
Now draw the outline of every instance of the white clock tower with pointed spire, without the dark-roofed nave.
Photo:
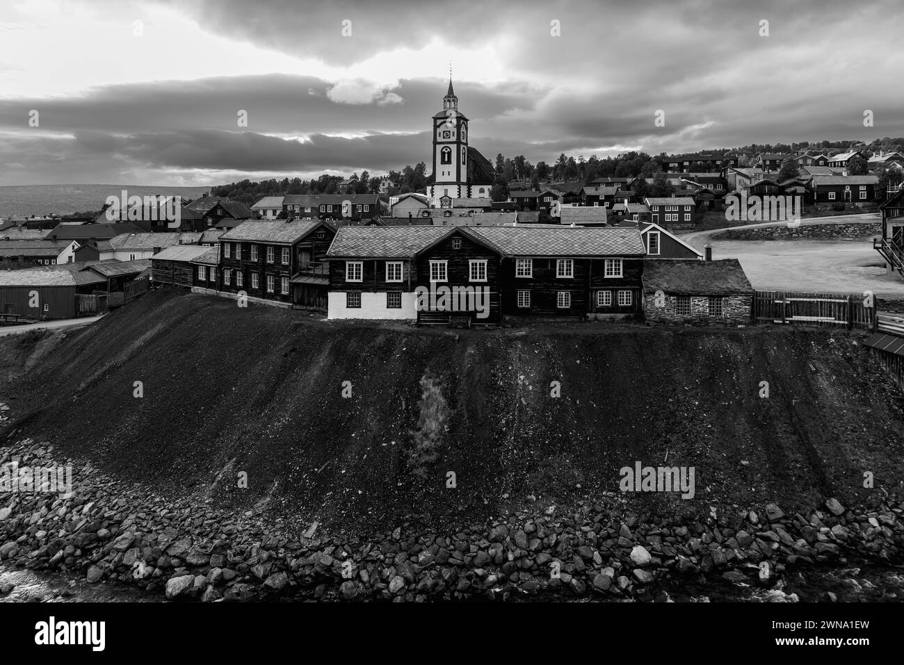
<svg viewBox="0 0 904 665">
<path fill-rule="evenodd" d="M 467 192 L 467 118 L 458 110 L 458 98 L 449 88 L 443 109 L 433 117 L 433 192 L 432 198 L 447 195 L 453 199 Z"/>
</svg>

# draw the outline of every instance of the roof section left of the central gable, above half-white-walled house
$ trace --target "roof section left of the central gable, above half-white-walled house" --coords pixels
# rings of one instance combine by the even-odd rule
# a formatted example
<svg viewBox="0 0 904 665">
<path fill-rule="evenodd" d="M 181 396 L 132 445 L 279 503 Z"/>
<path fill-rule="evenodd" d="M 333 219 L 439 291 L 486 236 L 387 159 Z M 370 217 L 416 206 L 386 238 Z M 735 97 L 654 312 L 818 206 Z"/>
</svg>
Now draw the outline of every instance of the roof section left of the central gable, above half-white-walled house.
<svg viewBox="0 0 904 665">
<path fill-rule="evenodd" d="M 344 226 L 336 231 L 328 258 L 413 258 L 449 229 L 441 226 Z"/>
</svg>

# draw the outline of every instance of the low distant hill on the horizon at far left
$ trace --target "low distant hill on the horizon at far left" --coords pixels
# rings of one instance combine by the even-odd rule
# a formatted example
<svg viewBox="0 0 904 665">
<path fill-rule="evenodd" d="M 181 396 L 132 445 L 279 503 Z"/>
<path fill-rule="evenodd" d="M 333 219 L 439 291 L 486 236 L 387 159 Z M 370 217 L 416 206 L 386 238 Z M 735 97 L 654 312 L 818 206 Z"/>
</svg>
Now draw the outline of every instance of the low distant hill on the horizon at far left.
<svg viewBox="0 0 904 665">
<path fill-rule="evenodd" d="M 47 214 L 99 211 L 110 195 L 179 194 L 196 199 L 210 187 L 169 187 L 137 184 L 27 184 L 0 186 L 0 218 L 42 217 Z"/>
</svg>

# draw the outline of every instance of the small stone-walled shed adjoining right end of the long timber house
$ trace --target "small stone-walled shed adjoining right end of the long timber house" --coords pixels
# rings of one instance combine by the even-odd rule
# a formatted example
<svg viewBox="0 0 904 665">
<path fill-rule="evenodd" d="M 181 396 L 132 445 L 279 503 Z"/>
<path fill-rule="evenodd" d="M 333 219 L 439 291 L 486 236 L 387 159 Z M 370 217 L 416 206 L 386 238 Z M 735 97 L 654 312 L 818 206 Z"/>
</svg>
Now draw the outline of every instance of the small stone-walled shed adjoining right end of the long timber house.
<svg viewBox="0 0 904 665">
<path fill-rule="evenodd" d="M 644 261 L 648 323 L 746 325 L 752 313 L 753 286 L 737 258 Z"/>
</svg>

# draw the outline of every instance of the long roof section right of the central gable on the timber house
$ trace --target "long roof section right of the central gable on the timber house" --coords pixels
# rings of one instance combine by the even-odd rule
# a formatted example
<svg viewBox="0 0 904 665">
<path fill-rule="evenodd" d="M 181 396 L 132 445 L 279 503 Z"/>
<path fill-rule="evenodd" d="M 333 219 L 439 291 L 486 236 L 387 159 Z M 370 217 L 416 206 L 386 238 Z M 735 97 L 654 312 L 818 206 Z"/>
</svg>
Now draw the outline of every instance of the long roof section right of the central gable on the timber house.
<svg viewBox="0 0 904 665">
<path fill-rule="evenodd" d="M 644 241 L 637 229 L 609 227 L 468 227 L 506 256 L 604 257 L 643 256 Z"/>
</svg>

